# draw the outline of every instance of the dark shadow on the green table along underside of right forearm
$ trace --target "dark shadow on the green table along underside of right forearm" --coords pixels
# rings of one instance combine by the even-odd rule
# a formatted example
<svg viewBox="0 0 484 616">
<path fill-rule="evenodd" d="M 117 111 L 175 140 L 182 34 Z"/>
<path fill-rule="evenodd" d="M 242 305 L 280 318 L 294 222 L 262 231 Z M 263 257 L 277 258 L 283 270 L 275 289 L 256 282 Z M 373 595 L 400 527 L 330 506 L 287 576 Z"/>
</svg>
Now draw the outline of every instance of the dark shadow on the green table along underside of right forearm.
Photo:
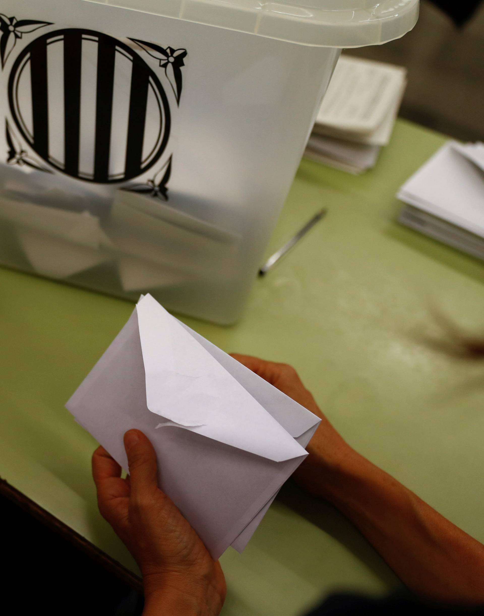
<svg viewBox="0 0 484 616">
<path fill-rule="evenodd" d="M 401 586 L 395 573 L 379 556 L 373 546 L 332 505 L 318 498 L 313 498 L 297 487 L 292 480 L 284 484 L 277 500 L 328 533 L 336 541 L 339 541 L 358 560 L 363 562 L 389 590 Z"/>
</svg>

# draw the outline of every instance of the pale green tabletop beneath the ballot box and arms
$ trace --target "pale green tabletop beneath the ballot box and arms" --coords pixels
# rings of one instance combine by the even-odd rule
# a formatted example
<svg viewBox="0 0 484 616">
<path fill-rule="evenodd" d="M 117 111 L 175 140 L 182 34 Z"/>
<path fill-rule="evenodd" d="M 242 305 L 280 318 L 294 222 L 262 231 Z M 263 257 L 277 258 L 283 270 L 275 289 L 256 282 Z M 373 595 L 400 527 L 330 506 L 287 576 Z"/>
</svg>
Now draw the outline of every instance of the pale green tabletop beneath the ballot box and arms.
<svg viewBox="0 0 484 616">
<path fill-rule="evenodd" d="M 484 265 L 395 222 L 398 187 L 443 144 L 398 121 L 360 177 L 302 161 L 267 255 L 313 229 L 256 280 L 243 319 L 183 318 L 227 352 L 291 363 L 361 453 L 484 540 L 484 365 L 446 354 L 437 315 L 484 331 Z M 64 408 L 133 305 L 0 269 L 0 476 L 129 569 L 97 511 L 95 442 Z M 221 559 L 224 616 L 294 616 L 341 589 L 398 582 L 334 509 L 290 483 L 243 554 Z"/>
</svg>

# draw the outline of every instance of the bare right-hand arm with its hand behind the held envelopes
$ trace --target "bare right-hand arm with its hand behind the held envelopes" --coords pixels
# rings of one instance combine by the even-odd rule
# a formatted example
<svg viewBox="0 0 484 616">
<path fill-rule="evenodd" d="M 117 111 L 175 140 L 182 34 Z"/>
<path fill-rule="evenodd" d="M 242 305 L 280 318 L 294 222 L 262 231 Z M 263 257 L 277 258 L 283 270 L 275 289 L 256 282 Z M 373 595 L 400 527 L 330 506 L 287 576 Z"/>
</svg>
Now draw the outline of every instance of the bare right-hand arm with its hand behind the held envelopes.
<svg viewBox="0 0 484 616">
<path fill-rule="evenodd" d="M 232 355 L 321 418 L 295 479 L 331 501 L 414 593 L 451 604 L 484 604 L 484 546 L 358 455 L 331 426 L 296 370 Z"/>
</svg>

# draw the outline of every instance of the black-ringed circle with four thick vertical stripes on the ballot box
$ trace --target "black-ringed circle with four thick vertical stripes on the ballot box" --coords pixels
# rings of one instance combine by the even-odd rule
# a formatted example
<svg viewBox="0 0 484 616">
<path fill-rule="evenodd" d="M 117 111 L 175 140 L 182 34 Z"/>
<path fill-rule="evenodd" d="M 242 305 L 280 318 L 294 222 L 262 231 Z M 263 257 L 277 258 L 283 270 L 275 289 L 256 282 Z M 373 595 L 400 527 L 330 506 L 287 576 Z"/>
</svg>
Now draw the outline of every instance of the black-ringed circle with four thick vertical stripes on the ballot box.
<svg viewBox="0 0 484 616">
<path fill-rule="evenodd" d="M 155 72 L 131 47 L 91 30 L 57 30 L 26 46 L 10 73 L 9 104 L 44 161 L 100 184 L 148 171 L 170 134 Z"/>
</svg>

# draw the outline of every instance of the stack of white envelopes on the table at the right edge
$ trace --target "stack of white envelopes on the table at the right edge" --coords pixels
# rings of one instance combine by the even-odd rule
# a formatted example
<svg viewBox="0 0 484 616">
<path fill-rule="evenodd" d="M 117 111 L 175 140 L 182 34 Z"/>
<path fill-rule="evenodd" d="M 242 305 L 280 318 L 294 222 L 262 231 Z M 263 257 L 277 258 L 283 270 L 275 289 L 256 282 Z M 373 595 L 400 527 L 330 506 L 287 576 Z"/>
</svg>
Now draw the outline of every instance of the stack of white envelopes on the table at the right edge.
<svg viewBox="0 0 484 616">
<path fill-rule="evenodd" d="M 402 224 L 484 259 L 484 144 L 448 142 L 398 198 Z"/>
</svg>

